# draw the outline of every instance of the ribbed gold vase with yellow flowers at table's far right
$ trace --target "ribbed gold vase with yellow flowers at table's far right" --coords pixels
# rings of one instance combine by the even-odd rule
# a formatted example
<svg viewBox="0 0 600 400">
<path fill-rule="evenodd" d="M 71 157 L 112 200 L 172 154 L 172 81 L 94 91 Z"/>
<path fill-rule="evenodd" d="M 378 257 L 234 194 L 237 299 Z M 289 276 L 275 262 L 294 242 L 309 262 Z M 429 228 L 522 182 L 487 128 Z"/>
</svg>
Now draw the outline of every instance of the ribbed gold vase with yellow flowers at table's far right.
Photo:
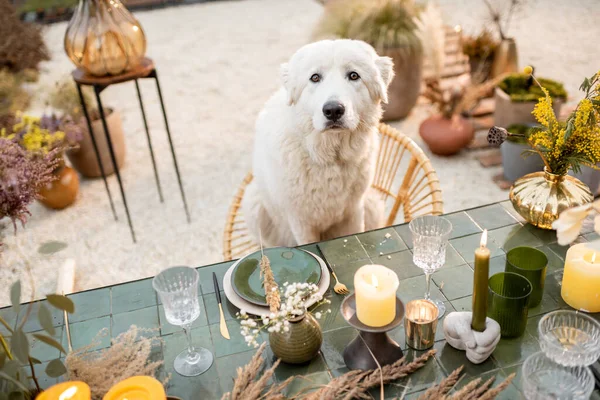
<svg viewBox="0 0 600 400">
<path fill-rule="evenodd" d="M 531 67 L 525 72 L 532 74 Z M 533 77 L 533 75 L 532 75 Z M 542 85 L 533 77 L 540 87 Z M 564 210 L 590 203 L 590 189 L 579 179 L 567 175 L 578 172 L 582 166 L 597 168 L 600 162 L 600 73 L 586 78 L 581 85 L 585 97 L 569 115 L 566 122 L 558 121 L 552 108 L 552 97 L 542 87 L 544 97 L 535 106 L 533 115 L 539 129 L 529 130 L 527 153 L 538 154 L 544 162 L 544 171 L 534 172 L 518 179 L 510 190 L 515 210 L 529 223 L 543 229 L 552 229 L 552 223 Z M 502 143 L 510 135 L 506 130 L 492 128 L 488 135 L 491 143 Z"/>
</svg>

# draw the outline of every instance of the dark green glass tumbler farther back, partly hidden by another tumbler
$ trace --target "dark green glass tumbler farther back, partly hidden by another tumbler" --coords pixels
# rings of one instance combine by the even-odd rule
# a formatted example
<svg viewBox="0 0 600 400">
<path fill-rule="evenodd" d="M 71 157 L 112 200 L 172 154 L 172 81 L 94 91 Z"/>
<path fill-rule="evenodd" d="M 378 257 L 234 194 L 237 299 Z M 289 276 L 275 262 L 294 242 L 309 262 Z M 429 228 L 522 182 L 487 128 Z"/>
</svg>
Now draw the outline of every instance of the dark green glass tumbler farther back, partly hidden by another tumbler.
<svg viewBox="0 0 600 400">
<path fill-rule="evenodd" d="M 506 254 L 506 272 L 514 272 L 529 280 L 531 297 L 529 307 L 536 307 L 542 301 L 548 257 L 533 247 L 515 247 Z"/>
</svg>

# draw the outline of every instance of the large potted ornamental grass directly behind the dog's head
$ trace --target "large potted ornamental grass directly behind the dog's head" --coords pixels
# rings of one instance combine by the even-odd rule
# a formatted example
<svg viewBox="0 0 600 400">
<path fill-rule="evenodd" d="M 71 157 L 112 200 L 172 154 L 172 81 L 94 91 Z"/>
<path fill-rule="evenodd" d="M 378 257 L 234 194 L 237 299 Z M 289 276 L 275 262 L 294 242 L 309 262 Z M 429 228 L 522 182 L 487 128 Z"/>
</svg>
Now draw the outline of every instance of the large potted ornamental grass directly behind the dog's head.
<svg viewBox="0 0 600 400">
<path fill-rule="evenodd" d="M 371 44 L 394 60 L 384 120 L 406 117 L 417 103 L 423 71 L 423 46 L 417 35 L 412 0 L 331 0 L 319 22 L 317 38 L 350 38 Z"/>
</svg>

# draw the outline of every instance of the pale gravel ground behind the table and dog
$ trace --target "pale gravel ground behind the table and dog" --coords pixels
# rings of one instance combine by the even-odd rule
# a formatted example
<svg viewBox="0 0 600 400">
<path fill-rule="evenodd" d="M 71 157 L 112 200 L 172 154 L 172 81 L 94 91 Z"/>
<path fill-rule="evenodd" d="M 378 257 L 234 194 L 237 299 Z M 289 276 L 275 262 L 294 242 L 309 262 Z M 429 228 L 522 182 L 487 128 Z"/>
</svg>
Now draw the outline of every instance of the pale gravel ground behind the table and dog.
<svg viewBox="0 0 600 400">
<path fill-rule="evenodd" d="M 486 23 L 482 1 L 439 3 L 448 24 L 460 23 L 466 32 Z M 49 293 L 67 257 L 77 262 L 77 290 L 151 276 L 172 265 L 220 261 L 227 209 L 251 164 L 256 115 L 279 86 L 279 64 L 310 41 L 321 13 L 314 0 L 222 1 L 137 13 L 147 34 L 148 55 L 160 72 L 192 223 L 185 220 L 152 82 L 141 85 L 164 204 L 158 199 L 135 89 L 132 84 L 111 87 L 103 99 L 123 117 L 128 153 L 122 175 L 138 243 L 131 241 L 116 178 L 109 184 L 119 222 L 113 220 L 102 180 L 83 180 L 72 207 L 50 211 L 35 204 L 25 229 L 12 235 L 7 228 L 0 287 L 19 278 L 29 281 L 23 272 L 28 263 L 36 297 Z M 564 81 L 576 95 L 582 78 L 600 67 L 598 20 L 597 0 L 527 3 L 511 27 L 521 64 L 533 64 L 539 75 Z M 66 23 L 59 23 L 45 31 L 52 60 L 43 65 L 41 88 L 72 69 L 62 48 L 65 28 Z M 427 115 L 420 107 L 394 125 L 422 144 L 417 128 Z M 432 162 L 442 182 L 446 211 L 507 196 L 491 183 L 497 170 L 482 169 L 473 152 L 432 156 Z M 52 240 L 68 246 L 53 255 L 39 254 L 39 247 Z M 29 296 L 30 285 L 24 286 Z M 3 290 L 0 305 L 7 303 L 8 290 Z"/>
</svg>

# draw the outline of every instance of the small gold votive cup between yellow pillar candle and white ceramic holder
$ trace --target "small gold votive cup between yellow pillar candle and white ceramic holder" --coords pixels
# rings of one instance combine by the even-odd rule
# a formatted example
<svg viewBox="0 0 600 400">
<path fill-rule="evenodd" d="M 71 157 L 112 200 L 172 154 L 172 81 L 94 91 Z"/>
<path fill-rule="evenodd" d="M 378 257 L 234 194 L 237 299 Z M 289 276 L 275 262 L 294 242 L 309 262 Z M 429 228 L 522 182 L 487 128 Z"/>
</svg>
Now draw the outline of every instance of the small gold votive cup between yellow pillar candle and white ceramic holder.
<svg viewBox="0 0 600 400">
<path fill-rule="evenodd" d="M 437 306 L 430 300 L 409 301 L 404 314 L 406 344 L 415 350 L 433 347 L 438 315 Z"/>
</svg>

